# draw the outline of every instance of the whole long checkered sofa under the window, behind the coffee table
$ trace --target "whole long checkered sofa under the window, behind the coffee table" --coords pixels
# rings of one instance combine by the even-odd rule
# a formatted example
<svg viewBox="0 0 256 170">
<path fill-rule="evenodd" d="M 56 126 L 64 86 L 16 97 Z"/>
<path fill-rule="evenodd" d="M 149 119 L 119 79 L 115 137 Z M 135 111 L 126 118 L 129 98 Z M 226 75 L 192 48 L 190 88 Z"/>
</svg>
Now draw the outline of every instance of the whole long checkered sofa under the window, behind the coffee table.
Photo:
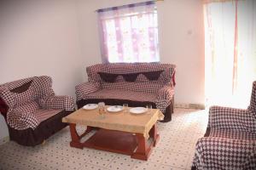
<svg viewBox="0 0 256 170">
<path fill-rule="evenodd" d="M 78 108 L 89 103 L 153 105 L 172 120 L 175 65 L 98 64 L 86 68 L 88 82 L 76 86 Z"/>
</svg>

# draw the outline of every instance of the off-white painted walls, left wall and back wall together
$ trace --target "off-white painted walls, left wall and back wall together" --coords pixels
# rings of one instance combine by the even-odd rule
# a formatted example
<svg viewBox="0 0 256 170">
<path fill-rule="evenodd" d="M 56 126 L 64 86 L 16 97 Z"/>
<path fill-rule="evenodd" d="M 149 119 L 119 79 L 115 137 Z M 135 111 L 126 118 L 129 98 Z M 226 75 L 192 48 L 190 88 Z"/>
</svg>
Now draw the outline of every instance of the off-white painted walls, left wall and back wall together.
<svg viewBox="0 0 256 170">
<path fill-rule="evenodd" d="M 74 86 L 86 80 L 85 66 L 101 62 L 95 10 L 143 1 L 22 1 L 0 9 L 0 83 L 49 75 L 56 94 L 74 96 Z M 201 0 L 157 6 L 160 61 L 177 65 L 175 101 L 204 104 Z M 7 135 L 0 116 L 0 139 Z"/>
</svg>

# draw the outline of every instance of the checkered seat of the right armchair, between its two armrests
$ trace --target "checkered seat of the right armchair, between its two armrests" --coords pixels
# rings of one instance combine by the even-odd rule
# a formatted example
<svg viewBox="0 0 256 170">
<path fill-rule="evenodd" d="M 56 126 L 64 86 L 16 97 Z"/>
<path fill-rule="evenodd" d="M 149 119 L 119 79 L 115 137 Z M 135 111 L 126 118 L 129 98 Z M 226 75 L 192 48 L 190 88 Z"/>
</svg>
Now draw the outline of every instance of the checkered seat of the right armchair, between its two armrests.
<svg viewBox="0 0 256 170">
<path fill-rule="evenodd" d="M 226 139 L 256 140 L 256 133 L 235 131 L 232 129 L 212 128 L 209 137 L 218 137 L 218 138 L 226 138 Z"/>
</svg>

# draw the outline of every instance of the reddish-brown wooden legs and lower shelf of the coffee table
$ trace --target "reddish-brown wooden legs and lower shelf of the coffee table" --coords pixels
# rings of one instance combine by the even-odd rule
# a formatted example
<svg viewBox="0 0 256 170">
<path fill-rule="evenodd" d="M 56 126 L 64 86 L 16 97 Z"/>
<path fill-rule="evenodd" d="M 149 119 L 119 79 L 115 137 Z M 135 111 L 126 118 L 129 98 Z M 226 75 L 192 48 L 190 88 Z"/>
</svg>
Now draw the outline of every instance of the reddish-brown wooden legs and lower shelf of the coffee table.
<svg viewBox="0 0 256 170">
<path fill-rule="evenodd" d="M 80 142 L 93 127 L 87 127 L 82 135 L 76 131 L 76 125 L 69 124 L 72 141 L 70 146 L 83 149 L 84 147 L 96 150 L 111 151 L 114 153 L 125 154 L 135 159 L 148 160 L 152 148 L 159 140 L 159 135 L 156 133 L 156 127 L 152 127 L 149 132 L 150 140 L 146 140 L 142 133 L 125 133 L 114 130 L 98 129 L 90 139 L 83 143 Z M 151 141 L 151 142 L 148 142 Z"/>
</svg>

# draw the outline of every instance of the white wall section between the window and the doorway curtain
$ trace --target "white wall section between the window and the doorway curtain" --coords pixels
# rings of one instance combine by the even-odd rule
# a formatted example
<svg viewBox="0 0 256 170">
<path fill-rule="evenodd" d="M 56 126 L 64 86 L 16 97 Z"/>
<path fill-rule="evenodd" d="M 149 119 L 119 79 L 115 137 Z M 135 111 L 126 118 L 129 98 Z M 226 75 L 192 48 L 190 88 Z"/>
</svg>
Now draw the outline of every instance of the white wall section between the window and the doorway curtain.
<svg viewBox="0 0 256 170">
<path fill-rule="evenodd" d="M 203 6 L 201 0 L 159 2 L 160 57 L 177 65 L 175 101 L 205 103 Z"/>
</svg>

